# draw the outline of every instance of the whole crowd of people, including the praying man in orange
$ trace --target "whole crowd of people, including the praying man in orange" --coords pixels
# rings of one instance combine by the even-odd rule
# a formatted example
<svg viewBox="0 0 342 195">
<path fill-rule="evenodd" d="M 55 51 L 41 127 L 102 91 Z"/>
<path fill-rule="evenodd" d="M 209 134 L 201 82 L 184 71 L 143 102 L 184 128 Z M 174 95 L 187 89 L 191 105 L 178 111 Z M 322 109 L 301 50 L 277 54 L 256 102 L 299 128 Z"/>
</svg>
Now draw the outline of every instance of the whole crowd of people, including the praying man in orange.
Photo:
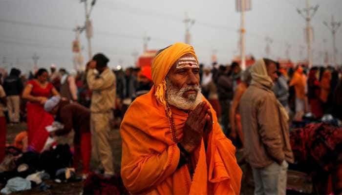
<svg viewBox="0 0 342 195">
<path fill-rule="evenodd" d="M 238 194 L 235 148 L 243 151 L 256 194 L 285 194 L 288 163 L 297 160 L 289 127 L 305 118 L 342 120 L 342 70 L 330 66 L 289 68 L 271 59 L 246 70 L 237 62 L 208 66 L 183 43 L 160 50 L 151 67 L 110 70 L 108 62 L 100 53 L 84 72 L 52 65 L 28 79 L 16 68 L 1 77 L 0 162 L 6 123 L 24 121 L 27 131 L 14 142 L 22 152 L 41 153 L 49 137 L 74 131 L 73 167 L 82 160 L 86 178 L 93 158 L 112 177 L 119 170 L 109 133 L 121 125 L 121 176 L 133 194 Z M 54 121 L 62 127 L 48 132 Z M 342 157 L 341 147 L 336 152 Z M 341 161 L 332 163 L 341 174 Z M 342 192 L 341 179 L 331 183 L 331 192 Z"/>
</svg>

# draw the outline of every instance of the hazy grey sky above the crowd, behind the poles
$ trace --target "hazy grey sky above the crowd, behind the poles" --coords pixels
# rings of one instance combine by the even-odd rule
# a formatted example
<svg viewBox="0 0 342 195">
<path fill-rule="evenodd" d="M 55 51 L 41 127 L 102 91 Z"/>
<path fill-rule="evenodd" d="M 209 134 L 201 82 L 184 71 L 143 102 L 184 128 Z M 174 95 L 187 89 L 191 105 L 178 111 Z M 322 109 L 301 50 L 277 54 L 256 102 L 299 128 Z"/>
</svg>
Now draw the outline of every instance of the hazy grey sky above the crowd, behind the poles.
<svg viewBox="0 0 342 195">
<path fill-rule="evenodd" d="M 89 3 L 91 0 L 88 0 Z M 332 55 L 332 35 L 323 21 L 342 20 L 342 0 L 310 0 L 319 4 L 312 20 L 314 28 L 314 63 L 322 63 L 323 39 Z M 300 59 L 300 46 L 306 58 L 304 41 L 305 20 L 296 8 L 303 8 L 305 0 L 252 0 L 252 11 L 246 13 L 246 53 L 265 57 L 265 37 L 274 40 L 271 58 L 285 58 L 286 42 L 291 45 L 290 57 Z M 133 65 L 133 53 L 142 53 L 143 37 L 149 36 L 149 49 L 161 49 L 174 42 L 184 41 L 185 12 L 195 20 L 191 28 L 192 42 L 201 62 L 211 62 L 217 50 L 219 63 L 230 63 L 237 55 L 240 14 L 235 0 L 97 0 L 91 13 L 94 37 L 93 54 L 103 52 L 110 59 L 109 66 L 118 63 Z M 0 66 L 3 62 L 23 70 L 33 68 L 32 55 L 40 59 L 39 67 L 55 63 L 58 68 L 73 67 L 72 31 L 85 22 L 85 7 L 79 0 L 0 0 Z M 342 27 L 336 34 L 337 62 L 342 63 Z M 85 60 L 87 42 L 81 35 Z"/>
</svg>

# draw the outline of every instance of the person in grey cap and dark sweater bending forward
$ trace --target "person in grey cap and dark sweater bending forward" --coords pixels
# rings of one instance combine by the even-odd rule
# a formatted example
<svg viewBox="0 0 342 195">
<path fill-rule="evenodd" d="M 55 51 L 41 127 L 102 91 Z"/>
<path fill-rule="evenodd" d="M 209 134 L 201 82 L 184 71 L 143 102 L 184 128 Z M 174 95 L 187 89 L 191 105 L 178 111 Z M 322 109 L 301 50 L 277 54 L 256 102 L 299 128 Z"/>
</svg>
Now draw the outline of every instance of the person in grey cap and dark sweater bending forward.
<svg viewBox="0 0 342 195">
<path fill-rule="evenodd" d="M 91 157 L 91 133 L 90 133 L 90 110 L 79 103 L 70 102 L 67 99 L 54 96 L 46 101 L 44 109 L 52 115 L 55 120 L 64 125 L 63 129 L 50 132 L 50 137 L 63 136 L 72 129 L 74 136 L 74 162 L 76 169 L 82 158 L 82 173 L 85 178 L 89 172 Z"/>
</svg>

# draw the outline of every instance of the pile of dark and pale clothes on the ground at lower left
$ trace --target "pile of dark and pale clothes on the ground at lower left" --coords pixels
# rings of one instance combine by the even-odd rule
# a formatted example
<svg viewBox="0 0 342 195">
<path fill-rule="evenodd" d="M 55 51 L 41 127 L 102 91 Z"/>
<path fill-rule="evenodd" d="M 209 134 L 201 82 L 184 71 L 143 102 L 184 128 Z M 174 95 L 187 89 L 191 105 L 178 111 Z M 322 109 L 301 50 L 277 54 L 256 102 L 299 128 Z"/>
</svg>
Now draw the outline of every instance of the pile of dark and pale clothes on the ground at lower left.
<svg viewBox="0 0 342 195">
<path fill-rule="evenodd" d="M 56 182 L 80 181 L 71 167 L 72 154 L 67 144 L 57 145 L 44 151 L 22 153 L 13 146 L 6 148 L 6 156 L 0 164 L 0 183 L 5 184 L 2 194 L 29 190 L 39 186 L 43 191 L 50 186 L 44 179 L 54 179 Z"/>
</svg>

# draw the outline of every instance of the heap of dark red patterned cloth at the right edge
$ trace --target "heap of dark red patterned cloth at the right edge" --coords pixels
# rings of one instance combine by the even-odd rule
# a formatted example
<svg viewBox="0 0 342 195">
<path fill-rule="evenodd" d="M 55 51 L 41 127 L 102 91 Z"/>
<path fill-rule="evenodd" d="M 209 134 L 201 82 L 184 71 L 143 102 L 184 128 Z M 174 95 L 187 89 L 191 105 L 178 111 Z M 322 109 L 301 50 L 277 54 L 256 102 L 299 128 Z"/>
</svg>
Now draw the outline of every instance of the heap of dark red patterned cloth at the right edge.
<svg viewBox="0 0 342 195">
<path fill-rule="evenodd" d="M 313 193 L 342 193 L 342 127 L 332 116 L 320 121 L 304 119 L 290 133 L 290 142 L 297 169 L 311 176 Z M 299 124 L 299 123 L 298 123 Z M 297 124 L 297 125 L 298 125 Z"/>
</svg>

